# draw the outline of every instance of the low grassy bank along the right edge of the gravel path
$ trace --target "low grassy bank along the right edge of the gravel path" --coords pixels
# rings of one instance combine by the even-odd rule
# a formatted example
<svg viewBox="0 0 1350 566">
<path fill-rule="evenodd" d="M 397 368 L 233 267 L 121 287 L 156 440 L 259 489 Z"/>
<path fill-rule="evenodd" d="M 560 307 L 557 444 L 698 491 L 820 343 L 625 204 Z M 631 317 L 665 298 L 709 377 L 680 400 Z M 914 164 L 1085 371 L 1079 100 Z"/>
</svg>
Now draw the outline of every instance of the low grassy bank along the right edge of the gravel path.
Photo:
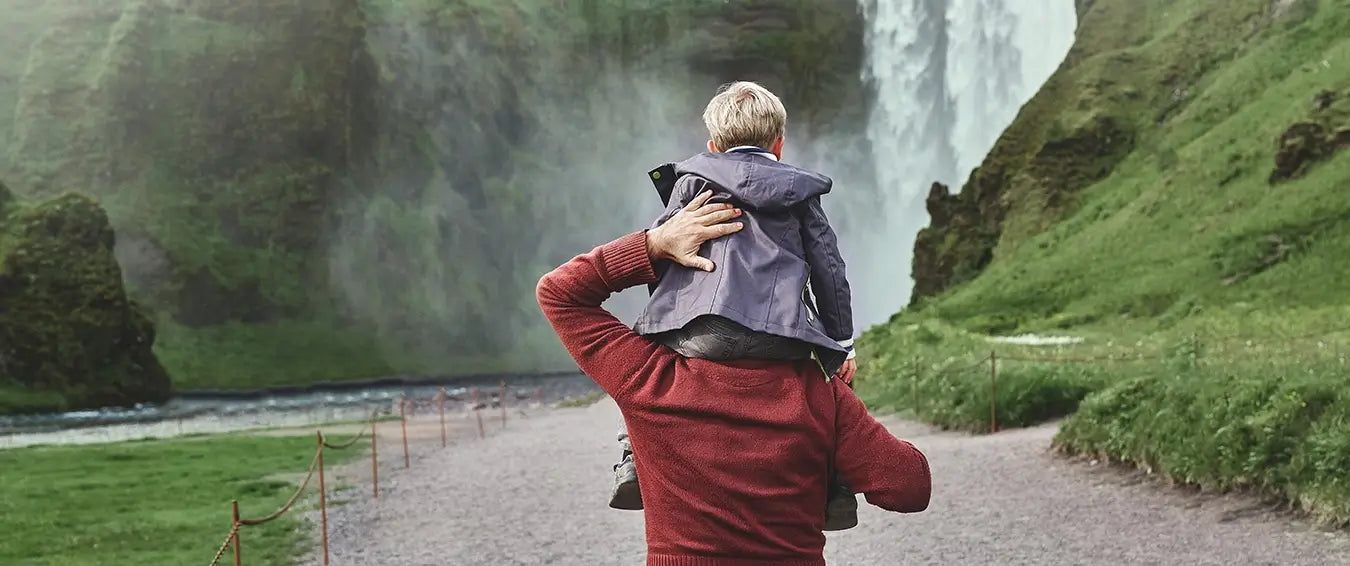
<svg viewBox="0 0 1350 566">
<path fill-rule="evenodd" d="M 1066 416 L 1054 440 L 1064 453 L 1127 462 L 1207 490 L 1251 490 L 1346 525 L 1343 320 L 1345 312 L 1328 309 L 1215 315 L 1138 338 L 1122 338 L 1125 328 L 1081 328 L 1071 332 L 1081 344 L 1017 346 L 914 317 L 869 332 L 878 354 L 864 361 L 859 390 L 876 409 L 988 431 L 994 353 L 1000 428 Z M 1310 330 L 1318 323 L 1322 330 Z"/>
</svg>

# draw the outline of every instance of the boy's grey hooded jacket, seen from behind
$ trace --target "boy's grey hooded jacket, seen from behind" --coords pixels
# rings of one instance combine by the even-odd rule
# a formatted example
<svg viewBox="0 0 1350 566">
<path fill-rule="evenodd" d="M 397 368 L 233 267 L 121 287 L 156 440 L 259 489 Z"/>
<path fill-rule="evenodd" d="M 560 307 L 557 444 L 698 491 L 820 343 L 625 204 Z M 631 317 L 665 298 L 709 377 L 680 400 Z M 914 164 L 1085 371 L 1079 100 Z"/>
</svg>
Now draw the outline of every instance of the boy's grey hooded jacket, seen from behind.
<svg viewBox="0 0 1350 566">
<path fill-rule="evenodd" d="M 680 328 L 701 315 L 721 315 L 751 330 L 818 346 L 834 373 L 852 350 L 853 312 L 844 259 L 821 196 L 833 181 L 819 173 L 752 153 L 702 153 L 651 172 L 670 220 L 703 190 L 713 203 L 744 211 L 744 230 L 703 245 L 711 273 L 657 266 L 660 282 L 633 328 L 643 335 Z M 818 312 L 813 311 L 814 292 Z"/>
</svg>

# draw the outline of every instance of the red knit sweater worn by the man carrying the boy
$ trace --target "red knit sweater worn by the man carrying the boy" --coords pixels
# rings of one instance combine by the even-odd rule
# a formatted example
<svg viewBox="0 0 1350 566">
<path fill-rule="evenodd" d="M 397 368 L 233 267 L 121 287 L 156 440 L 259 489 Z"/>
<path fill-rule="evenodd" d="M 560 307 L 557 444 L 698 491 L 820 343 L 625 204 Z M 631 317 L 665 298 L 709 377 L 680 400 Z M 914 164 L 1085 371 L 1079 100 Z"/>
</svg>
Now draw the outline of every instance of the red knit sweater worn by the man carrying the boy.
<svg viewBox="0 0 1350 566">
<path fill-rule="evenodd" d="M 539 281 L 548 321 L 614 398 L 637 454 L 648 565 L 825 565 L 832 469 L 872 505 L 927 508 L 927 459 L 811 361 L 684 358 L 601 308 L 656 281 L 645 232 L 579 255 Z"/>
</svg>

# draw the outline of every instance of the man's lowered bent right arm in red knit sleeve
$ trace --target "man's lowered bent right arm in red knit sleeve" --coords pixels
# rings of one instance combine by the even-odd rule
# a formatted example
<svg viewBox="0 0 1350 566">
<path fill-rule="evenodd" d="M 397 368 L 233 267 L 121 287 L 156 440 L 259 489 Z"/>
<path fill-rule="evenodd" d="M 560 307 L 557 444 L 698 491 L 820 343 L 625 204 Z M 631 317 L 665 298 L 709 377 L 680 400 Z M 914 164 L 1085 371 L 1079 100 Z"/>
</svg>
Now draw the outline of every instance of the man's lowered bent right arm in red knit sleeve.
<svg viewBox="0 0 1350 566">
<path fill-rule="evenodd" d="M 923 453 L 868 415 L 852 389 L 836 382 L 834 396 L 834 466 L 845 482 L 886 511 L 927 509 L 933 475 Z"/>
</svg>

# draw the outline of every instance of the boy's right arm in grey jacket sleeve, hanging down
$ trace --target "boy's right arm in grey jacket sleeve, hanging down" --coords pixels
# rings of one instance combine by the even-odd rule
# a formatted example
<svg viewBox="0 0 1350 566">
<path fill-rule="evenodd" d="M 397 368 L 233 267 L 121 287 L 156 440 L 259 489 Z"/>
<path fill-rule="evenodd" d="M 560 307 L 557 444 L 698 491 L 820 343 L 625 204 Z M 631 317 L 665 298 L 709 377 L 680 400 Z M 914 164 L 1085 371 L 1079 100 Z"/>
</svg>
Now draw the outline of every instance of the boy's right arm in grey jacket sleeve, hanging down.
<svg viewBox="0 0 1350 566">
<path fill-rule="evenodd" d="M 852 358 L 853 304 L 838 238 L 825 217 L 819 197 L 810 199 L 802 205 L 802 245 L 806 249 L 806 263 L 811 270 L 815 308 L 819 311 L 825 334 L 848 349 Z"/>
</svg>

